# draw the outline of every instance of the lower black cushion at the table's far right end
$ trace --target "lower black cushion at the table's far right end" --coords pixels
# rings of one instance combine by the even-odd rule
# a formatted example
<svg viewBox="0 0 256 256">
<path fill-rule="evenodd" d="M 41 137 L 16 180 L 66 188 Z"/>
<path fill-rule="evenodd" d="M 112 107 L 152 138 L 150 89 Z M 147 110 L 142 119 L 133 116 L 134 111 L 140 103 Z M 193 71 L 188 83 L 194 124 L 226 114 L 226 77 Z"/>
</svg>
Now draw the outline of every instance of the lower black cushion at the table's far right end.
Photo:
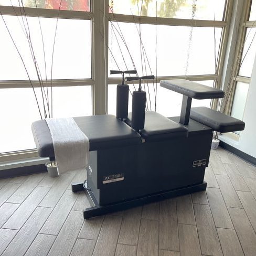
<svg viewBox="0 0 256 256">
<path fill-rule="evenodd" d="M 190 118 L 221 133 L 243 131 L 245 126 L 243 121 L 205 106 L 191 108 Z"/>
</svg>

